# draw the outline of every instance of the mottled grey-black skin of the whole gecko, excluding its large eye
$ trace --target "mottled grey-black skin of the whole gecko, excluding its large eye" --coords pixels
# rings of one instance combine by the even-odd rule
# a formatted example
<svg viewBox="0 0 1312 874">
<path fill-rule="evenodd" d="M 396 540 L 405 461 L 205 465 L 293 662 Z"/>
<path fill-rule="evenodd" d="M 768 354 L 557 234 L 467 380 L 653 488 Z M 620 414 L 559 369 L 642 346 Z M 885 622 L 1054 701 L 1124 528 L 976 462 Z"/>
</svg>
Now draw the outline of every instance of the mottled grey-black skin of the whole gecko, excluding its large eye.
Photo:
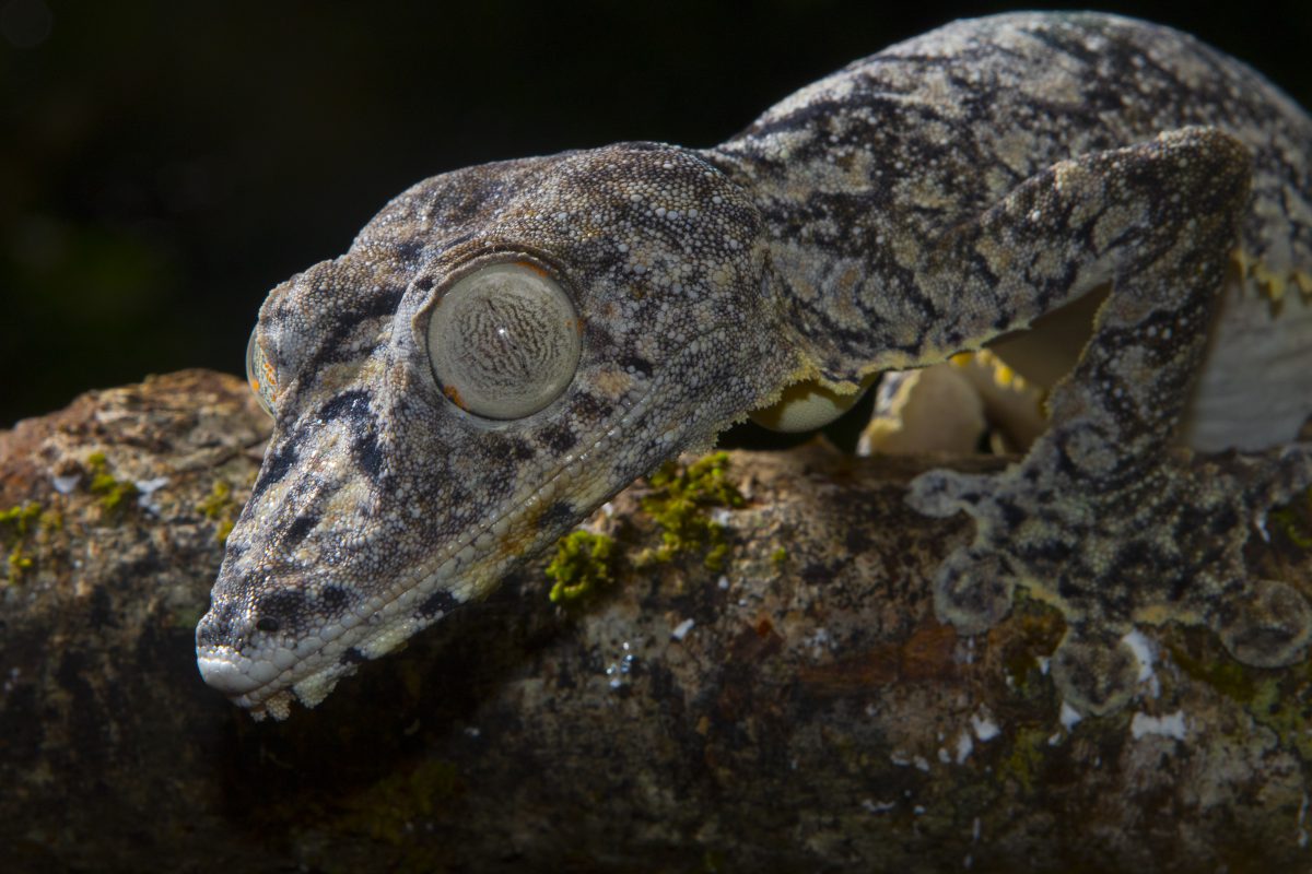
<svg viewBox="0 0 1312 874">
<path fill-rule="evenodd" d="M 1018 583 L 1056 604 L 1055 679 L 1090 712 L 1132 691 L 1135 621 L 1204 622 L 1244 662 L 1288 663 L 1312 609 L 1241 549 L 1312 481 L 1312 451 L 1283 419 L 1252 423 L 1239 442 L 1271 447 L 1254 453 L 1173 438 L 1219 354 L 1228 275 L 1271 343 L 1312 347 L 1271 300 L 1296 287 L 1302 307 L 1309 287 L 1309 155 L 1303 111 L 1194 39 L 1026 13 L 858 62 L 712 149 L 621 144 L 421 182 L 260 312 L 277 425 L 197 629 L 202 674 L 257 714 L 314 705 L 782 388 L 855 390 L 1109 282 L 1026 459 L 914 484 L 922 512 L 976 520 L 935 580 L 939 616 L 981 632 Z M 517 421 L 443 396 L 426 350 L 443 291 L 495 261 L 547 271 L 580 317 L 573 381 Z M 1312 411 L 1307 368 L 1263 389 L 1253 355 L 1254 390 Z"/>
</svg>

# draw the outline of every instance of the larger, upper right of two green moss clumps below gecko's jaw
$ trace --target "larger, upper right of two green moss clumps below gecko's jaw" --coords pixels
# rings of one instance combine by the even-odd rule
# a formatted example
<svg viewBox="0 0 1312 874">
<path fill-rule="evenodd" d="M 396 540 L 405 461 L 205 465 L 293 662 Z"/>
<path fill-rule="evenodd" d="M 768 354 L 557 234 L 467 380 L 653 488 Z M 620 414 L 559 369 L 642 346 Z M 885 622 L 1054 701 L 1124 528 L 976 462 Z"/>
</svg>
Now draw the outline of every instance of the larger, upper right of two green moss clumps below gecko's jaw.
<svg viewBox="0 0 1312 874">
<path fill-rule="evenodd" d="M 743 494 L 726 476 L 728 453 L 712 452 L 680 468 L 670 463 L 651 477 L 652 491 L 643 510 L 661 528 L 661 545 L 639 556 L 639 563 L 665 562 L 682 552 L 705 552 L 708 570 L 723 570 L 729 552 L 724 525 L 707 512 L 711 507 L 741 507 Z"/>
</svg>

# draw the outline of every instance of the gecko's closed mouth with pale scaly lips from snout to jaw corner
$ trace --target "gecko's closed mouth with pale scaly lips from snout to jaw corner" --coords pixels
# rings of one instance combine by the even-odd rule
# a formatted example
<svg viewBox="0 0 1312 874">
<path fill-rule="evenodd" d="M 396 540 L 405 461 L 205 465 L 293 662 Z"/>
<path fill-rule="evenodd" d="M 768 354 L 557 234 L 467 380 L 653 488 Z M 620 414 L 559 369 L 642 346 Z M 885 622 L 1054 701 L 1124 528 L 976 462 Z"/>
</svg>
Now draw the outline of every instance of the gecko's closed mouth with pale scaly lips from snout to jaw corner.
<svg viewBox="0 0 1312 874">
<path fill-rule="evenodd" d="M 672 356 L 670 364 L 697 354 L 710 337 L 724 330 L 714 328 L 689 339 Z M 646 414 L 666 380 L 666 376 L 657 376 L 640 389 L 636 400 L 611 419 L 586 449 L 556 468 L 526 499 L 514 502 L 508 511 L 449 546 L 436 565 L 396 580 L 388 591 L 362 603 L 358 612 L 348 613 L 298 645 L 261 647 L 248 655 L 227 643 L 202 642 L 206 637 L 223 637 L 216 628 L 223 618 L 211 609 L 197 628 L 197 667 L 205 683 L 228 696 L 234 704 L 251 709 L 256 718 L 262 718 L 265 713 L 277 719 L 286 718 L 293 698 L 315 706 L 361 662 L 384 655 L 454 607 L 491 591 L 495 582 L 517 562 L 534 554 L 550 539 L 548 535 L 538 533 L 527 548 L 522 544 L 514 546 L 513 539 L 501 536 L 488 549 L 475 553 L 475 542 L 489 533 L 514 529 L 518 520 L 547 506 L 589 469 L 596 469 L 597 455 L 614 440 L 631 435 L 628 426 Z M 585 498 L 589 506 L 600 504 L 623 485 L 627 481 L 607 486 L 604 495 L 589 494 Z M 464 579 L 453 586 L 461 578 Z"/>
</svg>

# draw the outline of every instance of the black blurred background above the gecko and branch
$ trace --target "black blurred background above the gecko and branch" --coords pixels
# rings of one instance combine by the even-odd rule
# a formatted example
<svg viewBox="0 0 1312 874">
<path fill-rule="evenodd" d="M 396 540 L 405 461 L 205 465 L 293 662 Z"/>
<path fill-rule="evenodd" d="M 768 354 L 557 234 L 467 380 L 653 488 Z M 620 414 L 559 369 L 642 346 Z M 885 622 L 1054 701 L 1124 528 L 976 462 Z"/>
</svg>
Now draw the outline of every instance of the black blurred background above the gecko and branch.
<svg viewBox="0 0 1312 874">
<path fill-rule="evenodd" d="M 1025 5 L 0 0 L 0 427 L 151 372 L 240 372 L 268 290 L 422 177 L 710 145 L 850 60 Z M 1307 0 L 1102 8 L 1312 105 Z"/>
</svg>

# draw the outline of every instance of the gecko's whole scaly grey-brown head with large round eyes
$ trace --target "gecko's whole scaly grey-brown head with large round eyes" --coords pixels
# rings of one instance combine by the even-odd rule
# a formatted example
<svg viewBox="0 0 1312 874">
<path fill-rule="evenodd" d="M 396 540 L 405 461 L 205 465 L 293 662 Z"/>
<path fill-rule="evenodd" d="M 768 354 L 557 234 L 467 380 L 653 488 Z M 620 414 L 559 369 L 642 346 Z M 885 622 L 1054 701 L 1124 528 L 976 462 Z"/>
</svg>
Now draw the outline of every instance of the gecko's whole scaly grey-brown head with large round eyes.
<svg viewBox="0 0 1312 874">
<path fill-rule="evenodd" d="M 248 354 L 276 425 L 205 680 L 312 706 L 775 393 L 760 228 L 695 152 L 625 144 L 421 182 L 276 288 Z"/>
</svg>

